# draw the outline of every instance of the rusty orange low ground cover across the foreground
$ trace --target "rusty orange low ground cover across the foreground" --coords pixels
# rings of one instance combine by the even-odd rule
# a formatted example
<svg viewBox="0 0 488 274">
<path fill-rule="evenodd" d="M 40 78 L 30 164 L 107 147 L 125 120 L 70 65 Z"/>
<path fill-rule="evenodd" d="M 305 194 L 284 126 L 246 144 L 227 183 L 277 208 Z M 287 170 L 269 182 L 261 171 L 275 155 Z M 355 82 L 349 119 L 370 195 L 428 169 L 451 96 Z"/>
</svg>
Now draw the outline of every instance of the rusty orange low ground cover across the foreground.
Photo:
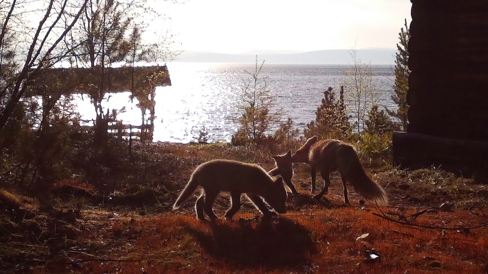
<svg viewBox="0 0 488 274">
<path fill-rule="evenodd" d="M 424 229 L 372 215 L 375 208 L 318 206 L 278 218 L 238 213 L 236 221 L 201 222 L 194 214 L 161 214 L 114 220 L 99 241 L 137 232 L 105 256 L 136 262 L 93 261 L 80 273 L 483 273 L 487 227 L 468 234 Z M 411 214 L 415 213 L 413 210 Z M 421 215 L 416 224 L 470 227 L 486 215 L 460 210 Z M 121 232 L 122 231 L 122 232 Z M 357 240 L 361 235 L 366 237 Z M 106 238 L 105 238 L 106 237 Z M 366 260 L 365 249 L 381 259 Z M 74 260 L 89 259 L 74 256 Z M 80 255 L 80 254 L 79 254 Z M 51 268 L 51 271 L 53 269 Z M 65 271 L 66 269 L 63 268 Z"/>
</svg>

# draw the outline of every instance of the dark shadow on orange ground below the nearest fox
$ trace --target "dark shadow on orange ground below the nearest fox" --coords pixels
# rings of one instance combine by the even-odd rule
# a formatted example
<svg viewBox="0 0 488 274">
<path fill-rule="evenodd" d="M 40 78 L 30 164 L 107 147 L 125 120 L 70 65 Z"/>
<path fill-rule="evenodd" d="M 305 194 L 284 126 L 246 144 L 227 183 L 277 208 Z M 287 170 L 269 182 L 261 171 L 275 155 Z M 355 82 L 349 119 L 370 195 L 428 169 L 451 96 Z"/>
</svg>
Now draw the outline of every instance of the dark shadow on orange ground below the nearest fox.
<svg viewBox="0 0 488 274">
<path fill-rule="evenodd" d="M 255 227 L 252 222 L 210 224 L 209 232 L 187 229 L 208 254 L 244 268 L 298 268 L 317 252 L 310 233 L 289 219 L 262 219 Z"/>
</svg>

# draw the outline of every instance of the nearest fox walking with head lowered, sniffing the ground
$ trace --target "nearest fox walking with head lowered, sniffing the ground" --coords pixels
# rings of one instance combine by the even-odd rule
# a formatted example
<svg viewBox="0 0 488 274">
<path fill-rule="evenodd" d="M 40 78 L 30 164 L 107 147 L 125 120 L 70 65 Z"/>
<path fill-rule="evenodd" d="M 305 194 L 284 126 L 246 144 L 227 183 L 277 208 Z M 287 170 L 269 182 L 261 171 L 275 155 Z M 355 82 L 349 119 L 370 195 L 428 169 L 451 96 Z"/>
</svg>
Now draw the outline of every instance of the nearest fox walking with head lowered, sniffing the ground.
<svg viewBox="0 0 488 274">
<path fill-rule="evenodd" d="M 266 203 L 276 212 L 286 213 L 285 202 L 288 194 L 283 177 L 278 176 L 274 179 L 264 168 L 256 164 L 225 159 L 204 162 L 191 174 L 188 183 L 173 205 L 173 210 L 180 208 L 198 187 L 203 189 L 195 202 L 196 215 L 200 220 L 206 220 L 204 214 L 211 222 L 218 218 L 212 207 L 221 192 L 228 192 L 231 196 L 231 207 L 225 213 L 226 220 L 232 220 L 241 208 L 243 193 L 264 217 L 275 215 L 266 207 Z"/>
</svg>

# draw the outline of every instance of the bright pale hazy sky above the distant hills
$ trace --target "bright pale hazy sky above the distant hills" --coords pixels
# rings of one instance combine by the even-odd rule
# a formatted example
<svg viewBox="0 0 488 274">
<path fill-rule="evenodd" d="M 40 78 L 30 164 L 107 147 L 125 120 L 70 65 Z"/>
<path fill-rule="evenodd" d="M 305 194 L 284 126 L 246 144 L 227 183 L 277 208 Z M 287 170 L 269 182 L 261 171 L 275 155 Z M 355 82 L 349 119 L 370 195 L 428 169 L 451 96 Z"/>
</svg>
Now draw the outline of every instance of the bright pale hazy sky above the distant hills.
<svg viewBox="0 0 488 274">
<path fill-rule="evenodd" d="M 164 27 L 180 49 L 222 53 L 396 48 L 411 21 L 410 0 L 187 0 L 156 9 L 171 18 Z"/>
</svg>

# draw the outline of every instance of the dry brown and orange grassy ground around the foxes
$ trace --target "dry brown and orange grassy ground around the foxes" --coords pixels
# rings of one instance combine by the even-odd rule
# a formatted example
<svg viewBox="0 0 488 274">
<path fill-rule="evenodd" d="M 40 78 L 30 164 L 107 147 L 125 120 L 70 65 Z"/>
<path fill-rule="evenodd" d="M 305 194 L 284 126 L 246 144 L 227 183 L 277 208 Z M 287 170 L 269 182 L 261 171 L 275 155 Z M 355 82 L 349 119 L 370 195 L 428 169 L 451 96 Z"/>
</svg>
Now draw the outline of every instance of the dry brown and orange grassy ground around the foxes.
<svg viewBox="0 0 488 274">
<path fill-rule="evenodd" d="M 142 203 L 140 208 L 86 204 L 80 206 L 76 218 L 71 218 L 63 210 L 68 201 L 58 200 L 54 205 L 56 212 L 32 217 L 29 226 L 13 219 L 8 233 L 0 229 L 0 252 L 6 254 L 0 257 L 0 273 L 488 271 L 487 226 L 464 229 L 487 221 L 487 198 L 477 195 L 486 185 L 472 179 L 433 169 L 401 171 L 379 167 L 368 172 L 386 188 L 390 205 L 381 211 L 370 202 L 363 204 L 352 188 L 352 205 L 346 206 L 340 177 L 333 175 L 322 205 L 307 204 L 310 199 L 301 196 L 305 205 L 297 206 L 298 199 L 290 197 L 288 213 L 265 220 L 246 202 L 235 221 L 218 220 L 211 224 L 195 218 L 195 197 L 184 204 L 183 210 L 170 211 L 191 171 L 214 158 L 259 162 L 269 170 L 273 167 L 269 152 L 256 153 L 251 148 L 225 144 L 167 144 L 144 149 L 152 153 L 148 162 L 164 165 L 158 157 L 170 160 L 158 174 L 161 181 L 173 186 L 157 197 L 158 204 Z M 310 170 L 303 164 L 294 168 L 293 182 L 299 192 L 307 194 Z M 63 183 L 74 187 L 72 184 Z M 172 191 L 173 187 L 177 191 Z M 321 183 L 317 187 L 320 190 Z M 95 191 L 89 186 L 81 188 Z M 8 192 L 0 191 L 0 200 L 19 200 L 5 193 Z M 453 212 L 439 210 L 440 204 L 447 201 L 454 204 Z M 228 206 L 228 197 L 221 197 L 215 205 L 216 214 L 223 216 Z M 5 220 L 8 216 L 0 217 Z M 1 226 L 5 228 L 4 224 Z M 12 231 L 36 225 L 43 229 L 31 234 Z M 371 249 L 380 257 L 368 259 L 367 251 Z"/>
</svg>

